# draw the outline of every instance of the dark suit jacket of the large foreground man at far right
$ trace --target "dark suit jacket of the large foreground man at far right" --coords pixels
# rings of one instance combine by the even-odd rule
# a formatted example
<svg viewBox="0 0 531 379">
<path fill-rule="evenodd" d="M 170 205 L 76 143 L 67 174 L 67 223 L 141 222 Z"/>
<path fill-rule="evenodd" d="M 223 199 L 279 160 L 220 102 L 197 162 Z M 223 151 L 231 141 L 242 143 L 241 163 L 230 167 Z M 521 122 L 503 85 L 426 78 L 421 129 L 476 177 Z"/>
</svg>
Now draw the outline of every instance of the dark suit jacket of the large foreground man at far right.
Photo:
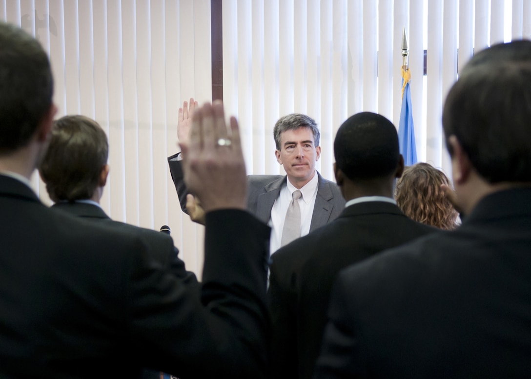
<svg viewBox="0 0 531 379">
<path fill-rule="evenodd" d="M 341 272 L 315 378 L 531 377 L 531 189 Z"/>
</svg>

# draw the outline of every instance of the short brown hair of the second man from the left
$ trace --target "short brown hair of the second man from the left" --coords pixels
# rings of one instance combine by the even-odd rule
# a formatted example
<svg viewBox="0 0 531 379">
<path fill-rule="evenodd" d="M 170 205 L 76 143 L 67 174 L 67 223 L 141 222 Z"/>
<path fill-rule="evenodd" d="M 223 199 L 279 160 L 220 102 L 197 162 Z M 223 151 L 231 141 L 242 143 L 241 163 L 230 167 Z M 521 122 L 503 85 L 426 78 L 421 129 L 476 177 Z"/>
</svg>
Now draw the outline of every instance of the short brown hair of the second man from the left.
<svg viewBox="0 0 531 379">
<path fill-rule="evenodd" d="M 54 122 L 39 171 L 54 202 L 90 199 L 107 163 L 107 135 L 93 119 L 64 116 Z"/>
</svg>

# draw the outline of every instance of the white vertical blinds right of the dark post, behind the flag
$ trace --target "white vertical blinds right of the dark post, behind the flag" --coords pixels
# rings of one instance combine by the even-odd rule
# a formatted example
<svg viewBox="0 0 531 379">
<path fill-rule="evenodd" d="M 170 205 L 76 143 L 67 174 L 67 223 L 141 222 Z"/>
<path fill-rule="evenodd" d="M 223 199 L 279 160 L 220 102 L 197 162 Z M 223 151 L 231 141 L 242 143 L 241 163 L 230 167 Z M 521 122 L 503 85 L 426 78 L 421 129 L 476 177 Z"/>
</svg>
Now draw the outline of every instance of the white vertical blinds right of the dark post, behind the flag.
<svg viewBox="0 0 531 379">
<path fill-rule="evenodd" d="M 223 0 L 223 18 L 225 105 L 245 128 L 248 170 L 284 173 L 272 130 L 298 112 L 320 125 L 318 169 L 332 180 L 333 138 L 348 116 L 374 111 L 398 126 L 402 28 L 418 158 L 448 175 L 442 105 L 458 69 L 474 50 L 531 38 L 526 0 Z"/>
</svg>

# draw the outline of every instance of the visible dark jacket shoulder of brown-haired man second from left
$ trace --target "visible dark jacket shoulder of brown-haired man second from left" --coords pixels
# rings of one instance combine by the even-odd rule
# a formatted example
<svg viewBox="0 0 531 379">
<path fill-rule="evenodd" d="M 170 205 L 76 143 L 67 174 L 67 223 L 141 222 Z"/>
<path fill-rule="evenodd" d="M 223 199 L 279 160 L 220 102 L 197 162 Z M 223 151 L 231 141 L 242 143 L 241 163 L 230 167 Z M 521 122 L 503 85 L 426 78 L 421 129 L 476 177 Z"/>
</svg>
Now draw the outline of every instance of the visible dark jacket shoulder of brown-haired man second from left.
<svg viewBox="0 0 531 379">
<path fill-rule="evenodd" d="M 178 258 L 179 250 L 175 246 L 173 249 L 168 249 L 168 244 L 173 244 L 173 240 L 169 235 L 160 231 L 139 228 L 125 222 L 111 220 L 99 206 L 89 203 L 56 203 L 52 205 L 52 208 L 87 221 L 98 222 L 101 225 L 111 226 L 126 232 L 140 233 L 146 242 L 149 243 L 153 254 L 158 255 L 162 264 L 170 265 L 177 277 L 182 278 L 186 283 L 197 282 L 195 274 L 191 271 L 186 271 L 184 262 Z"/>
</svg>

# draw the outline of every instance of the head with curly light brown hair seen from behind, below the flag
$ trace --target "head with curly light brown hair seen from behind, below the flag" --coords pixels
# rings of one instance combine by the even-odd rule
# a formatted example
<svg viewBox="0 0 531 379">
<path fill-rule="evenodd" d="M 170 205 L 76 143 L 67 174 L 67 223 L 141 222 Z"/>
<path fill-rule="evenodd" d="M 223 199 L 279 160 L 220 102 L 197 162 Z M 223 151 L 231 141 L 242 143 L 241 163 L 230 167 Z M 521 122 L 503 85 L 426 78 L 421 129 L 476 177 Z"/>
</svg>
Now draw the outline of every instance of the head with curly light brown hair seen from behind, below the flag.
<svg viewBox="0 0 531 379">
<path fill-rule="evenodd" d="M 404 169 L 395 188 L 395 200 L 407 217 L 440 229 L 456 227 L 459 214 L 441 188 L 452 188 L 450 179 L 429 163 Z"/>
</svg>

